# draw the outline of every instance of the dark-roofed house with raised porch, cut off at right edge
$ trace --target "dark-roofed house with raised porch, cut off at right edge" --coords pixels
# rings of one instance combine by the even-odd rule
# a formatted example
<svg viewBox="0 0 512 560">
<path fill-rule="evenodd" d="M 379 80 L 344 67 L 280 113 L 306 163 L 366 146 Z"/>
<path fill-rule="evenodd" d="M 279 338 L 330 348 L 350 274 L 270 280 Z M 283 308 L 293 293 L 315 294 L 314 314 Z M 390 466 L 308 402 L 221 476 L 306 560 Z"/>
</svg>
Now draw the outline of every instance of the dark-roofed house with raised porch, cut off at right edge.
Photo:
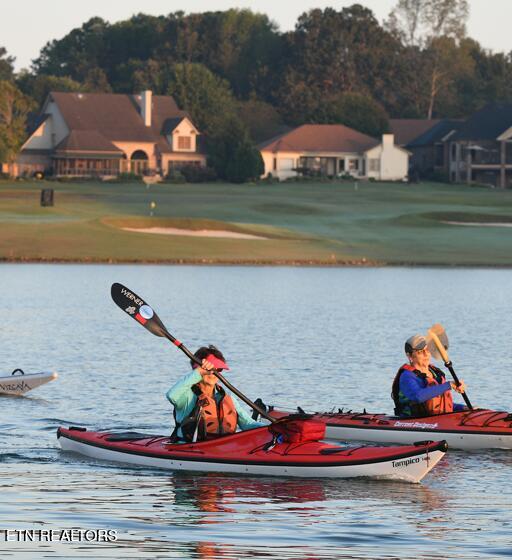
<svg viewBox="0 0 512 560">
<path fill-rule="evenodd" d="M 446 141 L 451 181 L 512 187 L 512 104 L 484 107 Z"/>
</svg>

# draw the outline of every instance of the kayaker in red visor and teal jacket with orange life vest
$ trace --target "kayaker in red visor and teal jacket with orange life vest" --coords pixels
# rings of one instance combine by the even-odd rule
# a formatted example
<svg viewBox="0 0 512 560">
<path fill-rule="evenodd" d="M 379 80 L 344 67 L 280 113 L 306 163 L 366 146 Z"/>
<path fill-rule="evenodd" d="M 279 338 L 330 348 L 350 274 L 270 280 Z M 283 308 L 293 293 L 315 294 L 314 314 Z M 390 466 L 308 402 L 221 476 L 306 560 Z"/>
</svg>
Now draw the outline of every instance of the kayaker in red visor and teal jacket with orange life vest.
<svg viewBox="0 0 512 560">
<path fill-rule="evenodd" d="M 174 405 L 176 427 L 171 440 L 193 442 L 213 439 L 241 430 L 263 426 L 253 420 L 235 396 L 226 394 L 212 373 L 229 370 L 224 356 L 215 346 L 202 346 L 194 354 L 201 366 L 190 361 L 192 372 L 179 379 L 167 391 L 167 399 Z"/>
</svg>

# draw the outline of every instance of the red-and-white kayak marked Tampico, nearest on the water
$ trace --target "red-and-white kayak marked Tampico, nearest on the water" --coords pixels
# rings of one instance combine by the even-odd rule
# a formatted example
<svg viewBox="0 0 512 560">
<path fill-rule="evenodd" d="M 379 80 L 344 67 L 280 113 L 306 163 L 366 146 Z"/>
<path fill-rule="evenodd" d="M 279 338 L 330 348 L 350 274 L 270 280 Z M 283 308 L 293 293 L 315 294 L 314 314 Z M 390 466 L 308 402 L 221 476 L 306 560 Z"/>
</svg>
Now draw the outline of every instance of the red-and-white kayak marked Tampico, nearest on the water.
<svg viewBox="0 0 512 560">
<path fill-rule="evenodd" d="M 445 442 L 400 447 L 340 447 L 322 441 L 275 443 L 267 427 L 199 443 L 148 434 L 59 428 L 64 451 L 168 470 L 264 476 L 372 477 L 419 482 L 443 457 Z"/>
</svg>

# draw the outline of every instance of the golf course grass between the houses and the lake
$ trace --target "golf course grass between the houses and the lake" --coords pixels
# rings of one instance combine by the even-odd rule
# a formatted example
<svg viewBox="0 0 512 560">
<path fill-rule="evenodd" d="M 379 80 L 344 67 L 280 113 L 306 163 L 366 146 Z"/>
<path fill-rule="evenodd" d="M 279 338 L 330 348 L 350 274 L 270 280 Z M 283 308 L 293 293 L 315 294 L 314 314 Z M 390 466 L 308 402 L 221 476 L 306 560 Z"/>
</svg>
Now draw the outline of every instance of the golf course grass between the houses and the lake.
<svg viewBox="0 0 512 560">
<path fill-rule="evenodd" d="M 0 182 L 4 261 L 512 266 L 509 226 L 512 191 L 465 185 Z"/>
</svg>

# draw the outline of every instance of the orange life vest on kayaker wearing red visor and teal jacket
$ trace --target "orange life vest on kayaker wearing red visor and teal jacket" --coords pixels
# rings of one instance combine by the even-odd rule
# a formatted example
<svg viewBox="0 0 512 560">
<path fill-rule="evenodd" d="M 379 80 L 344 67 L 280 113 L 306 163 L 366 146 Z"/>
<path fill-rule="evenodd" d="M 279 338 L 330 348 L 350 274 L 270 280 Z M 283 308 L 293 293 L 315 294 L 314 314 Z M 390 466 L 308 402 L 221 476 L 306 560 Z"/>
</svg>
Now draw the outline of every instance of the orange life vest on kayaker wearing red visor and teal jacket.
<svg viewBox="0 0 512 560">
<path fill-rule="evenodd" d="M 214 391 L 220 394 L 217 402 L 215 397 L 202 393 L 199 384 L 192 390 L 197 395 L 197 403 L 193 411 L 197 414 L 197 441 L 214 439 L 226 434 L 236 432 L 238 413 L 233 399 L 219 385 Z"/>
</svg>

